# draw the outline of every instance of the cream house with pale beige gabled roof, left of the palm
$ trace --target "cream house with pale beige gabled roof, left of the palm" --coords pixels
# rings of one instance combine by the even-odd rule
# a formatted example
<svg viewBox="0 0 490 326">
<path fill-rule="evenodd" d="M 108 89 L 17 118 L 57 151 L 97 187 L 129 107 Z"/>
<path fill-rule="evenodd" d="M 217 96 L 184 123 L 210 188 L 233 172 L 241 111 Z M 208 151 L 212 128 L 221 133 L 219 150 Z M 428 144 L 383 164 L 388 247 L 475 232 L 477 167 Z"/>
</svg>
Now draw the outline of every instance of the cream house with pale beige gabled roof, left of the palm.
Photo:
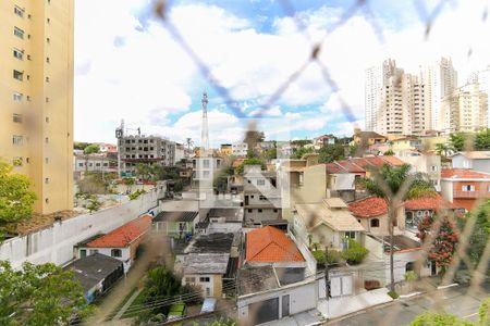
<svg viewBox="0 0 490 326">
<path fill-rule="evenodd" d="M 296 204 L 295 209 L 293 230 L 301 242 L 308 246 L 320 243 L 334 249 L 344 249 L 347 239 L 363 243 L 365 228 L 340 198 Z"/>
</svg>

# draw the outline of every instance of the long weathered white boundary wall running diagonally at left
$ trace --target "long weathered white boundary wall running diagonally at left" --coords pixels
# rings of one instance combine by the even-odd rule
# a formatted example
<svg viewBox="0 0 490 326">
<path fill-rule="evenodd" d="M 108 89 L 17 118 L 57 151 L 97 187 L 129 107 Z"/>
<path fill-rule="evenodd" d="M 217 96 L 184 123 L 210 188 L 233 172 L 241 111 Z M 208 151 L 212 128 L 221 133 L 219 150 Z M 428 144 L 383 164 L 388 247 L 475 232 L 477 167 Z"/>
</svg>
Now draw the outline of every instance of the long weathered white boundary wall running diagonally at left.
<svg viewBox="0 0 490 326">
<path fill-rule="evenodd" d="M 97 234 L 105 234 L 157 208 L 164 187 L 156 188 L 138 199 L 93 214 L 79 215 L 38 231 L 15 237 L 0 246 L 0 260 L 14 268 L 25 261 L 63 265 L 73 260 L 73 246 Z"/>
</svg>

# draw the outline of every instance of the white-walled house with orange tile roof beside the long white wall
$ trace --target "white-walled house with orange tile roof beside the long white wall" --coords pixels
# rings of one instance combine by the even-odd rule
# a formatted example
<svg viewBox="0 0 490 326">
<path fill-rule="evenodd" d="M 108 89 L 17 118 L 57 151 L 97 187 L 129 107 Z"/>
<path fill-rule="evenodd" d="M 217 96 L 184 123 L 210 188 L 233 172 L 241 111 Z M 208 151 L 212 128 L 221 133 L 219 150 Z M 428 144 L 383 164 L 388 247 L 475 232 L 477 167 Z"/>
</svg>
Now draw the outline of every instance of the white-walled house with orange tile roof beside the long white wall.
<svg viewBox="0 0 490 326">
<path fill-rule="evenodd" d="M 136 259 L 139 243 L 151 228 L 152 218 L 151 215 L 140 216 L 96 239 L 76 244 L 76 258 L 101 253 L 123 262 L 124 273 L 127 273 Z"/>
</svg>

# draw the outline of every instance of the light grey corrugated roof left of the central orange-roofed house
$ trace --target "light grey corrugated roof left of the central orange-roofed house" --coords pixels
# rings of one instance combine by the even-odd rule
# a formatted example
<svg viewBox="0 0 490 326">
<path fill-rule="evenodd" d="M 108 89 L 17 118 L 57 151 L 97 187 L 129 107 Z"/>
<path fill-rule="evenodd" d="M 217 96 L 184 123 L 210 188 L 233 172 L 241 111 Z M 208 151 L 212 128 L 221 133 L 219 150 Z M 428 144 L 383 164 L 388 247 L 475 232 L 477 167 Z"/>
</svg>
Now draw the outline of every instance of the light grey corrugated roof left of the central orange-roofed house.
<svg viewBox="0 0 490 326">
<path fill-rule="evenodd" d="M 229 253 L 188 253 L 184 256 L 184 274 L 226 274 Z"/>
</svg>

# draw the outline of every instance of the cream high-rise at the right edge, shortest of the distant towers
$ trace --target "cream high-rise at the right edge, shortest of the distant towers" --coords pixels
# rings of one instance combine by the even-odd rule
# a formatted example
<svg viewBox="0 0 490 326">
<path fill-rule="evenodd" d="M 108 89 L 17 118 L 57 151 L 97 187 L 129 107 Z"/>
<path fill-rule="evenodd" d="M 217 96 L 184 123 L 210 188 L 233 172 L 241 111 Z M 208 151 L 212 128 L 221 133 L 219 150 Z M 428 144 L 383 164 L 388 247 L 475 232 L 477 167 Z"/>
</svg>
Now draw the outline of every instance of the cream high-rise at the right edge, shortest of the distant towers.
<svg viewBox="0 0 490 326">
<path fill-rule="evenodd" d="M 443 98 L 440 112 L 441 130 L 444 133 L 474 133 L 488 126 L 488 95 L 473 83 L 456 88 Z"/>
</svg>

